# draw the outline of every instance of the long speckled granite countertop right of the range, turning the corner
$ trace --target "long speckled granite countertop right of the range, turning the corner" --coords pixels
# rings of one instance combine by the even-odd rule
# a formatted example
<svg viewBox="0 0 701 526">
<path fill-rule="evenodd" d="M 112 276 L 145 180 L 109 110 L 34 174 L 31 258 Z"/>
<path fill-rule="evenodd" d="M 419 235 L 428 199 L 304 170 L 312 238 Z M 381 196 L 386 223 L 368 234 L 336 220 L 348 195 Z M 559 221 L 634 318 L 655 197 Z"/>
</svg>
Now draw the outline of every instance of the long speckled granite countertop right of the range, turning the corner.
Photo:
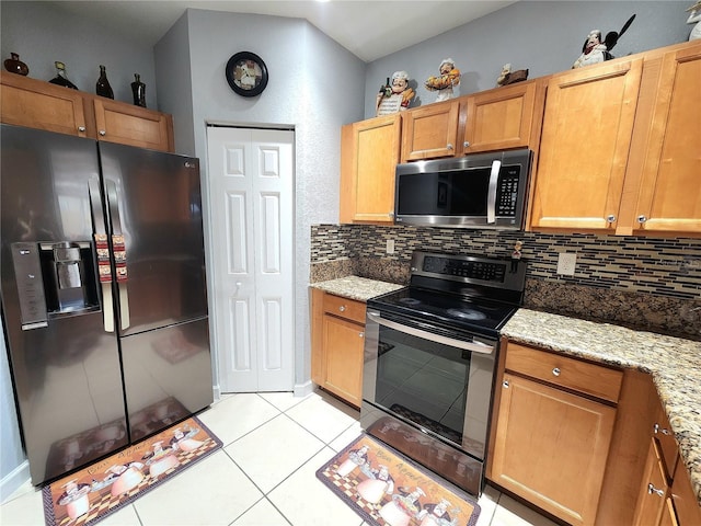
<svg viewBox="0 0 701 526">
<path fill-rule="evenodd" d="M 701 505 L 701 342 L 519 309 L 502 329 L 515 342 L 650 373 Z"/>
</svg>

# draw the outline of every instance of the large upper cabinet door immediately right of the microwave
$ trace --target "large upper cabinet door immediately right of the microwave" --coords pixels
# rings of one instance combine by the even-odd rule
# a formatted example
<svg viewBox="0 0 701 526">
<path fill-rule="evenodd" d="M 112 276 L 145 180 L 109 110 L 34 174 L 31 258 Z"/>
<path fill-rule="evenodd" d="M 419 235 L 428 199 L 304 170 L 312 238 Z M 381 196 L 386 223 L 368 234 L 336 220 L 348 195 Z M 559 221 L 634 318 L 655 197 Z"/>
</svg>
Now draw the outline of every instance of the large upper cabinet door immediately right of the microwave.
<svg viewBox="0 0 701 526">
<path fill-rule="evenodd" d="M 613 232 L 642 65 L 619 59 L 550 79 L 531 228 Z"/>
</svg>

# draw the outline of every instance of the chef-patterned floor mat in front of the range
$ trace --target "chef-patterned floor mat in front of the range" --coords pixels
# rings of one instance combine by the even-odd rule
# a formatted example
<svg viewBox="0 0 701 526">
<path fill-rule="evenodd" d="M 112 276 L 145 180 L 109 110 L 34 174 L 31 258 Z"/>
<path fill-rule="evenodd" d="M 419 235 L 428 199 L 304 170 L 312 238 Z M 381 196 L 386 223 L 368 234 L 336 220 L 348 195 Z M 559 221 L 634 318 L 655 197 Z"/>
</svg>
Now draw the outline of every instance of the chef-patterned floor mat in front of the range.
<svg viewBox="0 0 701 526">
<path fill-rule="evenodd" d="M 474 498 L 400 453 L 361 434 L 317 478 L 376 526 L 474 526 Z"/>
</svg>

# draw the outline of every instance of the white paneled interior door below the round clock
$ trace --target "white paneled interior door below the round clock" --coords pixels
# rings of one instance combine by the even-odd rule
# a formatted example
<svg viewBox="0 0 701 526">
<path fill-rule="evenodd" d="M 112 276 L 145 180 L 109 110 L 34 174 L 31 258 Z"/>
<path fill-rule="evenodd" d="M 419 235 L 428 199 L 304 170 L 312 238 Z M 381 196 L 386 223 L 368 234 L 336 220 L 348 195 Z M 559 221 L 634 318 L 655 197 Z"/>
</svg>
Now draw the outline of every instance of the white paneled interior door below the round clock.
<svg viewBox="0 0 701 526">
<path fill-rule="evenodd" d="M 223 392 L 292 390 L 294 139 L 291 130 L 207 128 Z"/>
</svg>

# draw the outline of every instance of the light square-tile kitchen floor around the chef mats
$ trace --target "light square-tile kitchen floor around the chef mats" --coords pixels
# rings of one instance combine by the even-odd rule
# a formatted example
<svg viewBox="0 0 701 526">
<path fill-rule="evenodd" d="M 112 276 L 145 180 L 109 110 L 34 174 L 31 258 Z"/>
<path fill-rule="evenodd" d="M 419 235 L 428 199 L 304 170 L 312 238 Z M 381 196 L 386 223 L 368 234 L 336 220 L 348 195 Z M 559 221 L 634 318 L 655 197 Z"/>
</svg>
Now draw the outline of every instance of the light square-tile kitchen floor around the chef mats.
<svg viewBox="0 0 701 526">
<path fill-rule="evenodd" d="M 225 396 L 199 419 L 223 448 L 162 483 L 101 526 L 364 526 L 315 471 L 359 433 L 358 412 L 317 391 Z M 555 526 L 486 488 L 478 526 Z M 0 525 L 44 524 L 28 482 L 0 506 Z"/>
</svg>

